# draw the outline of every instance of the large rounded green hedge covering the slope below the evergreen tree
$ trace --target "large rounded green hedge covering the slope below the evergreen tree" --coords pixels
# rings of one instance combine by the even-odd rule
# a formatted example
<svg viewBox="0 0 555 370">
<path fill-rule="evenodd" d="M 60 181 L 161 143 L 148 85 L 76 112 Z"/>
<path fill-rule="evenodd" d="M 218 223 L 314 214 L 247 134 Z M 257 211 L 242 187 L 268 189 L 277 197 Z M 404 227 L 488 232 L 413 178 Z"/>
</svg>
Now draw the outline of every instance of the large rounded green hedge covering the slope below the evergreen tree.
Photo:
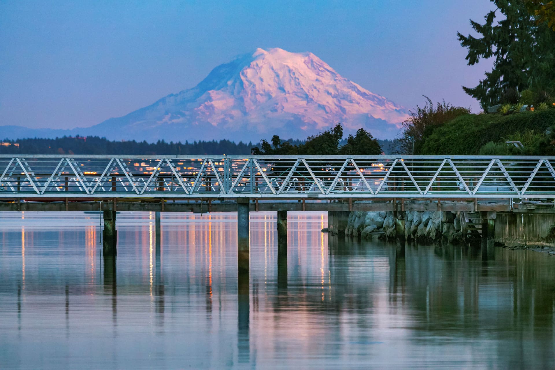
<svg viewBox="0 0 555 370">
<path fill-rule="evenodd" d="M 517 131 L 544 133 L 555 125 L 555 109 L 518 114 L 466 114 L 427 131 L 419 154 L 475 155 L 489 141 L 501 143 Z"/>
</svg>

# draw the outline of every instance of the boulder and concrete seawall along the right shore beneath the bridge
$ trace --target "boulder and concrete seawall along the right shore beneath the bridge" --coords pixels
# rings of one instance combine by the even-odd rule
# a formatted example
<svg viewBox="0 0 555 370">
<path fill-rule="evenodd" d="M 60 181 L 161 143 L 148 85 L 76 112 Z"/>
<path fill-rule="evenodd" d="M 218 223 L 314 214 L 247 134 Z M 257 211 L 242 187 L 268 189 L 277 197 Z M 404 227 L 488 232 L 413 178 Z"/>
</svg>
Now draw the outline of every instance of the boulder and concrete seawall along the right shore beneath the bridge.
<svg viewBox="0 0 555 370">
<path fill-rule="evenodd" d="M 350 212 L 331 222 L 330 232 L 361 239 L 401 237 L 417 242 L 460 244 L 487 240 L 506 246 L 555 246 L 555 214 L 513 212 Z M 477 217 L 477 218 L 476 218 Z M 346 220 L 345 220 L 346 218 Z M 346 221 L 346 222 L 345 222 Z M 340 229 L 337 226 L 340 225 Z"/>
</svg>

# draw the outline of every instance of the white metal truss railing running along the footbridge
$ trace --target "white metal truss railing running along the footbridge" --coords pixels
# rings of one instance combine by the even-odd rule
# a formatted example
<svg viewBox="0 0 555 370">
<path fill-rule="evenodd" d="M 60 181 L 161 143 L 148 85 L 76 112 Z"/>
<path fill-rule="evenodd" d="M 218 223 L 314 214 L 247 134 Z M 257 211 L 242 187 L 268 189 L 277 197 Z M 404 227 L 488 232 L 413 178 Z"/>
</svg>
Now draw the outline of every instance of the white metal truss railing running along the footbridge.
<svg viewBox="0 0 555 370">
<path fill-rule="evenodd" d="M 0 155 L 0 198 L 555 197 L 555 157 Z"/>
</svg>

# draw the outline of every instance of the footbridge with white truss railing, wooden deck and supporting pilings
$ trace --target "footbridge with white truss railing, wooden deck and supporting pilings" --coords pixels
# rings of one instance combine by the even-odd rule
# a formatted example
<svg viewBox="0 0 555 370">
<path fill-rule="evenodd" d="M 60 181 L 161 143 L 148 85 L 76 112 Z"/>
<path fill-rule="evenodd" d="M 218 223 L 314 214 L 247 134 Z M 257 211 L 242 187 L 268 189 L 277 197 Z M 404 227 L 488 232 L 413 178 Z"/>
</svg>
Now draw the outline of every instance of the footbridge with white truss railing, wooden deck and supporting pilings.
<svg viewBox="0 0 555 370">
<path fill-rule="evenodd" d="M 237 211 L 248 261 L 249 211 L 280 211 L 284 230 L 291 210 L 510 211 L 515 198 L 555 198 L 554 163 L 533 156 L 0 155 L 0 210 L 102 210 L 107 253 L 115 252 L 116 210 Z"/>
</svg>

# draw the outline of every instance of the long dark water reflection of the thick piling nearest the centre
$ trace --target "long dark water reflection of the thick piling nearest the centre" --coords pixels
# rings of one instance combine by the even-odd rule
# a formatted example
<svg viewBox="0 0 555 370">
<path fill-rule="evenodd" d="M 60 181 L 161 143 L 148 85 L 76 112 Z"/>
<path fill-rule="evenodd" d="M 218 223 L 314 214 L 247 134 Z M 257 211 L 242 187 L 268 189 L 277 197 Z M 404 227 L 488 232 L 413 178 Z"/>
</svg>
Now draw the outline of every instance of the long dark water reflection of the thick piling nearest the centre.
<svg viewBox="0 0 555 370">
<path fill-rule="evenodd" d="M 249 316 L 250 316 L 250 297 L 249 297 L 249 272 L 239 272 L 238 275 L 238 325 L 237 325 L 237 349 L 239 362 L 250 361 L 249 343 Z"/>
</svg>

